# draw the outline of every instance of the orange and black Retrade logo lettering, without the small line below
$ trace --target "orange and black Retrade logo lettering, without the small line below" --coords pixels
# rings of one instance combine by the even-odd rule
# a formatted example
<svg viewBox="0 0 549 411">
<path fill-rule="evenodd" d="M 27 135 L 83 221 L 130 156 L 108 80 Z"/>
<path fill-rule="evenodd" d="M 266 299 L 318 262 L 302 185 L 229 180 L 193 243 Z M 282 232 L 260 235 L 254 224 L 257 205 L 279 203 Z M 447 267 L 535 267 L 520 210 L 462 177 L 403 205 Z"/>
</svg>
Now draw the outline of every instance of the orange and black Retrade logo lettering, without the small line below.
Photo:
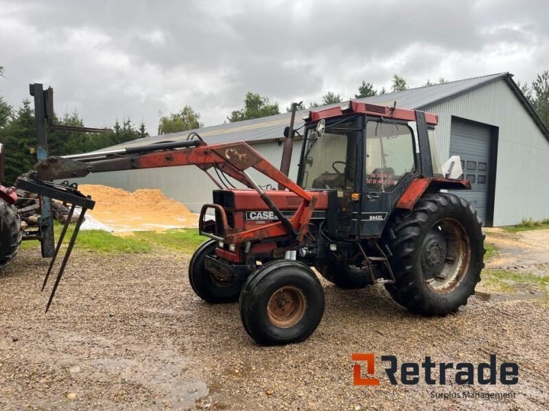
<svg viewBox="0 0 549 411">
<path fill-rule="evenodd" d="M 375 356 L 373 353 L 353 353 L 354 385 L 379 385 L 379 379 L 375 375 Z M 515 385 L 519 382 L 519 366 L 516 362 L 502 362 L 498 366 L 498 358 L 495 354 L 490 356 L 488 362 L 474 364 L 472 362 L 434 362 L 430 356 L 425 356 L 423 362 L 402 362 L 395 356 L 381 356 L 384 363 L 384 373 L 390 384 L 415 385 L 419 382 L 425 384 L 445 385 L 454 383 L 458 385 Z M 436 372 L 438 371 L 438 372 Z M 436 377 L 438 375 L 438 378 Z"/>
</svg>

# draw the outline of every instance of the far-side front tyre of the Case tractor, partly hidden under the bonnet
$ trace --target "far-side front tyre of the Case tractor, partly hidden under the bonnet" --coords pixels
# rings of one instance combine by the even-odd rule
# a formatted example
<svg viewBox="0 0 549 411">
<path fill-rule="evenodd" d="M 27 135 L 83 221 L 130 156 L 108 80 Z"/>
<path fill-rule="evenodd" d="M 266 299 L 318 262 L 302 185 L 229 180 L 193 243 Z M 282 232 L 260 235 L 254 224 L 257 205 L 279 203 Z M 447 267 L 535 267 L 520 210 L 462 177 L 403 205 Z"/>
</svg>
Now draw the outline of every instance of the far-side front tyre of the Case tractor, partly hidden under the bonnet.
<svg viewBox="0 0 549 411">
<path fill-rule="evenodd" d="M 233 277 L 229 281 L 218 279 L 204 266 L 206 256 L 211 256 L 217 242 L 208 240 L 194 252 L 189 262 L 189 282 L 191 287 L 204 301 L 212 304 L 235 303 L 244 285 L 243 278 Z"/>
</svg>

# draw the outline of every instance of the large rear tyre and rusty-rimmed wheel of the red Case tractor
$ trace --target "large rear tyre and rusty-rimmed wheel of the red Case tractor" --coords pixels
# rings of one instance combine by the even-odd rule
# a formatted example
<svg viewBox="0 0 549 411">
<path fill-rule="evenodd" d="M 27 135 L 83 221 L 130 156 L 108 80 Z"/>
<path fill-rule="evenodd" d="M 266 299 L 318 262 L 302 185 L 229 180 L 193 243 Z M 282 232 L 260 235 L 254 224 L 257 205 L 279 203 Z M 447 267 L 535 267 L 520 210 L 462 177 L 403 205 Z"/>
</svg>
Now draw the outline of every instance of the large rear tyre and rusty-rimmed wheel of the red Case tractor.
<svg viewBox="0 0 549 411">
<path fill-rule="evenodd" d="M 474 294 L 486 251 L 482 222 L 464 199 L 425 195 L 388 224 L 383 240 L 396 280 L 386 289 L 411 312 L 445 315 Z"/>
</svg>

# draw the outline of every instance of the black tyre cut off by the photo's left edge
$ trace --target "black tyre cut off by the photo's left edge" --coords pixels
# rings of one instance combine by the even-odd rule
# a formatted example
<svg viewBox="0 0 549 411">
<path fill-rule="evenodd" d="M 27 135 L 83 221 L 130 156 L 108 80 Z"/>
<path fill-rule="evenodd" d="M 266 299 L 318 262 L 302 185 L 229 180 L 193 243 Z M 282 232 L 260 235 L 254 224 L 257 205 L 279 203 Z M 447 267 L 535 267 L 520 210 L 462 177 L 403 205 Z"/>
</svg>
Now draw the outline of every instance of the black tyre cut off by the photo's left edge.
<svg viewBox="0 0 549 411">
<path fill-rule="evenodd" d="M 0 199 L 0 269 L 16 256 L 22 237 L 19 214 L 13 206 Z"/>
</svg>

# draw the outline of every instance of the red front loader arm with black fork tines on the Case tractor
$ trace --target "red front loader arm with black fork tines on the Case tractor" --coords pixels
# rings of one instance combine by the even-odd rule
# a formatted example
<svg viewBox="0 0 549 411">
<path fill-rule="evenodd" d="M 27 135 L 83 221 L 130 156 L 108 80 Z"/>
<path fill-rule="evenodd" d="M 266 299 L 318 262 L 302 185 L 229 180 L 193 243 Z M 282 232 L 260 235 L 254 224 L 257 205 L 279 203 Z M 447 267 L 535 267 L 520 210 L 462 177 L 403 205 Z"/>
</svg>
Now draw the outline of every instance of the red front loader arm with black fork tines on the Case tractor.
<svg viewBox="0 0 549 411">
<path fill-rule="evenodd" d="M 75 157 L 80 158 L 81 160 L 73 160 Z M 71 204 L 69 218 L 60 234 L 54 258 L 52 258 L 49 264 L 42 290 L 47 284 L 47 280 L 61 249 L 62 241 L 65 238 L 71 221 L 70 217 L 76 207 L 81 208 L 78 223 L 71 236 L 69 247 L 67 247 L 67 252 L 63 258 L 54 288 L 51 291 L 46 312 L 49 310 L 49 306 L 51 306 L 56 289 L 62 274 L 65 271 L 65 266 L 67 266 L 73 245 L 78 236 L 80 225 L 82 225 L 82 222 L 84 221 L 84 214 L 86 213 L 86 210 L 93 209 L 93 206 L 95 206 L 95 202 L 91 198 L 82 195 L 82 193 L 78 191 L 78 186 L 75 184 L 69 184 L 69 182 L 56 184 L 52 183 L 51 180 L 85 177 L 90 173 L 101 173 L 106 171 L 154 169 L 186 165 L 198 166 L 198 168 L 205 171 L 211 179 L 213 179 L 213 177 L 209 174 L 209 169 L 218 169 L 248 188 L 256 190 L 259 197 L 261 197 L 266 205 L 279 218 L 279 221 L 276 223 L 262 225 L 261 227 L 253 229 L 238 230 L 233 227 L 228 227 L 228 225 L 226 225 L 224 210 L 222 208 L 216 208 L 216 210 L 222 213 L 222 221 L 224 221 L 221 233 L 222 237 L 220 237 L 219 235 L 214 235 L 211 232 L 202 229 L 204 226 L 203 217 L 206 209 L 214 206 L 206 204 L 200 213 L 200 234 L 215 238 L 216 240 L 224 240 L 229 243 L 261 241 L 264 238 L 289 238 L 292 242 L 299 243 L 303 240 L 305 234 L 307 234 L 307 226 L 312 217 L 316 198 L 281 173 L 279 169 L 270 164 L 270 162 L 257 153 L 257 151 L 247 145 L 246 142 L 207 145 L 199 138 L 198 140 L 187 140 L 183 142 L 166 142 L 156 145 L 130 147 L 115 152 L 110 151 L 93 153 L 90 155 L 67 156 L 67 158 L 52 156 L 38 162 L 34 167 L 34 171 L 19 177 L 16 182 L 16 186 L 23 190 L 36 192 L 39 195 L 44 195 L 52 199 L 59 199 L 65 203 Z M 267 177 L 270 177 L 270 179 L 277 182 L 279 186 L 287 188 L 290 192 L 294 192 L 303 199 L 301 206 L 299 206 L 291 218 L 288 219 L 284 216 L 272 199 L 268 197 L 266 192 L 254 182 L 246 171 L 250 167 Z M 215 182 L 215 179 L 213 179 L 213 181 Z M 215 183 L 218 184 L 217 182 Z"/>
</svg>

